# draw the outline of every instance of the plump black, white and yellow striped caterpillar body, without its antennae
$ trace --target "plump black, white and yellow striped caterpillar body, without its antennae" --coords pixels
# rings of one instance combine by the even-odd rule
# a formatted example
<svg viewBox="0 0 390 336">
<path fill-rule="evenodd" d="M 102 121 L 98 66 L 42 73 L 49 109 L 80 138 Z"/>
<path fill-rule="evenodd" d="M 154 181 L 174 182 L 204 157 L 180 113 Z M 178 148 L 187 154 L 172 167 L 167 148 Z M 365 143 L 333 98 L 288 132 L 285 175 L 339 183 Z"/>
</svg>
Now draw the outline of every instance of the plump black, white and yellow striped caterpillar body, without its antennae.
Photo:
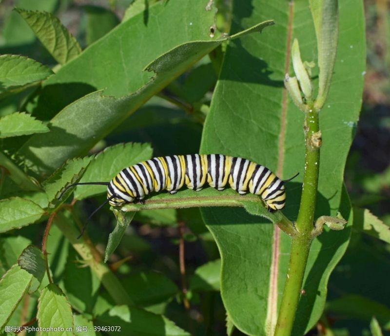
<svg viewBox="0 0 390 336">
<path fill-rule="evenodd" d="M 142 201 L 152 192 L 167 190 L 176 194 L 184 185 L 199 191 L 206 183 L 217 190 L 230 186 L 241 195 L 259 195 L 270 212 L 285 205 L 284 183 L 268 168 L 221 154 L 173 155 L 137 163 L 121 170 L 109 182 L 107 198 L 117 207 Z"/>
</svg>

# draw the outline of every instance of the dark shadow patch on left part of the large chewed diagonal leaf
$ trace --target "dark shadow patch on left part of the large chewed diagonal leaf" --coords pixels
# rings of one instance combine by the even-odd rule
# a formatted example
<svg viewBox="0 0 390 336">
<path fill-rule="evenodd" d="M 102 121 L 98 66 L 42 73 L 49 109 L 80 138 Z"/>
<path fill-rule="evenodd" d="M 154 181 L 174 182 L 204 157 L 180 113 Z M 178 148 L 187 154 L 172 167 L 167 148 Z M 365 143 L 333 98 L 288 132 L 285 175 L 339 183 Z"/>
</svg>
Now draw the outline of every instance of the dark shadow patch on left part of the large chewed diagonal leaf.
<svg viewBox="0 0 390 336">
<path fill-rule="evenodd" d="M 49 121 L 65 106 L 97 88 L 85 83 L 52 84 L 37 90 L 36 95 L 30 101 L 38 97 L 38 101 L 32 109 L 32 115 L 39 120 Z M 81 111 L 80 111 L 81 112 Z"/>
</svg>

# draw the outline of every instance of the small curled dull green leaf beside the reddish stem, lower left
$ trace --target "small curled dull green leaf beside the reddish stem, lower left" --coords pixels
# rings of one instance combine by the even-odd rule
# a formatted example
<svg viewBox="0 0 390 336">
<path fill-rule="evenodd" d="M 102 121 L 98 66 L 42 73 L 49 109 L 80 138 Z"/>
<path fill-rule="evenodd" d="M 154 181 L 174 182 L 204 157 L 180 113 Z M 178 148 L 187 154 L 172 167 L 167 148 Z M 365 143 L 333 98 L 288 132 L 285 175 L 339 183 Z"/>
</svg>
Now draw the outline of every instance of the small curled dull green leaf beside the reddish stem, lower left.
<svg viewBox="0 0 390 336">
<path fill-rule="evenodd" d="M 42 251 L 34 245 L 28 246 L 21 253 L 18 264 L 21 269 L 26 270 L 34 277 L 28 291 L 30 294 L 34 293 L 46 272 L 46 261 Z"/>
</svg>

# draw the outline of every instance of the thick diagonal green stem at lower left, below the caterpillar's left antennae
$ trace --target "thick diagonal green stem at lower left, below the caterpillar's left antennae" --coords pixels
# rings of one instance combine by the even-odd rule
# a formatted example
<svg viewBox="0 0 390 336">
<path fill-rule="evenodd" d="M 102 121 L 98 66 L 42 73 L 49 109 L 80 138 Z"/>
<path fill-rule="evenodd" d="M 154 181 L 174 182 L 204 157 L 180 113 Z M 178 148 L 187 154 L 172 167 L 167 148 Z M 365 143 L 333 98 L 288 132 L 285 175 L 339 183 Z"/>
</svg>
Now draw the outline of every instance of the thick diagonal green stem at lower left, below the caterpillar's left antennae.
<svg viewBox="0 0 390 336">
<path fill-rule="evenodd" d="M 74 225 L 72 220 L 69 220 L 65 215 L 59 212 L 55 218 L 55 224 L 59 230 L 62 231 L 64 236 L 73 245 L 73 248 L 78 252 L 81 258 L 91 267 L 92 271 L 98 276 L 107 292 L 113 298 L 116 304 L 133 305 L 134 302 L 130 299 L 126 290 L 119 282 L 115 274 L 104 265 L 100 260 L 96 260 L 97 251 L 93 246 L 89 246 L 88 241 L 85 241 L 83 237 L 77 239 L 78 229 Z M 100 254 L 99 254 L 100 256 Z M 101 256 L 100 256 L 101 259 Z"/>
</svg>

